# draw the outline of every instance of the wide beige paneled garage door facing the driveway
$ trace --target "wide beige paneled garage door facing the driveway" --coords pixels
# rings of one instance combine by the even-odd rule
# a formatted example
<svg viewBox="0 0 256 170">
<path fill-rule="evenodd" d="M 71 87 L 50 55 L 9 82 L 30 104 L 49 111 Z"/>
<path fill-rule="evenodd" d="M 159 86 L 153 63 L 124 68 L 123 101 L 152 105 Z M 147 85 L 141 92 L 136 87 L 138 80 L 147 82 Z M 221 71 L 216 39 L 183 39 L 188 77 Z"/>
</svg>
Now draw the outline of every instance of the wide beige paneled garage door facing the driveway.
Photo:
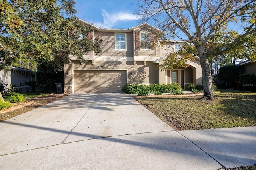
<svg viewBox="0 0 256 170">
<path fill-rule="evenodd" d="M 124 70 L 75 70 L 74 92 L 121 92 L 126 81 Z"/>
</svg>

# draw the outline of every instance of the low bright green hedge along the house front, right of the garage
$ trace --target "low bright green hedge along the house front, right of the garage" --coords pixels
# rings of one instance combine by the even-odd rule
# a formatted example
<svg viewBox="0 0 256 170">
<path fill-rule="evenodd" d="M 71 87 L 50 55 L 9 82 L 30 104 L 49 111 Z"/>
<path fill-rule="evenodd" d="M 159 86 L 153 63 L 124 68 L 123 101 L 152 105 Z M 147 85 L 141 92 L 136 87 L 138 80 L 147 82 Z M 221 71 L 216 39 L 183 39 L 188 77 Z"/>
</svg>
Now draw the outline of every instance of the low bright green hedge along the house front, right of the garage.
<svg viewBox="0 0 256 170">
<path fill-rule="evenodd" d="M 156 95 L 161 95 L 162 93 L 171 93 L 171 94 L 182 94 L 182 87 L 178 83 L 172 84 L 157 84 L 153 83 L 151 85 L 143 84 L 126 84 L 123 87 L 123 91 L 128 94 L 137 94 L 139 96 L 145 96 L 150 93 Z"/>
</svg>

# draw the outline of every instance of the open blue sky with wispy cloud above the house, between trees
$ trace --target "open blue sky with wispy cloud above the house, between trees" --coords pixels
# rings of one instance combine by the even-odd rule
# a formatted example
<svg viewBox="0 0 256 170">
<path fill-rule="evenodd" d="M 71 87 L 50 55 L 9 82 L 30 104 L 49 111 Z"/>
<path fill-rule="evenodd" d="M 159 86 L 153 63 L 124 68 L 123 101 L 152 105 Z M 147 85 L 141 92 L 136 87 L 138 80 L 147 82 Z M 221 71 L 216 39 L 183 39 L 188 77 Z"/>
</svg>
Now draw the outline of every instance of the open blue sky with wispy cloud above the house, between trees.
<svg viewBox="0 0 256 170">
<path fill-rule="evenodd" d="M 136 0 L 76 0 L 76 16 L 103 28 L 131 28 L 139 23 L 134 15 Z"/>
</svg>

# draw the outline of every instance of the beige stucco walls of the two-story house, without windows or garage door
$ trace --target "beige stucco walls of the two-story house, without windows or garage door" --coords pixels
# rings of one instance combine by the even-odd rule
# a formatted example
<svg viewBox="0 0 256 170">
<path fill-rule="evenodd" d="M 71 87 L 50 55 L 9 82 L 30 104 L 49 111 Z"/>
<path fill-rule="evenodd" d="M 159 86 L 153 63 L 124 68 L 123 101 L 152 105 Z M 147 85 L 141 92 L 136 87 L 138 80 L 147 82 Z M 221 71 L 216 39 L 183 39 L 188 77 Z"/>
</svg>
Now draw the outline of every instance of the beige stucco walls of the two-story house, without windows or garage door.
<svg viewBox="0 0 256 170">
<path fill-rule="evenodd" d="M 161 59 L 174 51 L 174 43 L 155 42 L 154 28 L 149 25 L 134 27 L 129 29 L 100 29 L 96 28 L 93 36 L 99 36 L 103 42 L 101 43 L 102 52 L 95 55 L 89 52 L 84 55 L 88 60 L 88 64 L 81 65 L 75 57 L 70 56 L 71 63 L 65 65 L 65 87 L 64 93 L 74 93 L 74 70 L 125 70 L 127 73 L 127 83 L 167 83 L 167 72 L 156 69 Z M 150 33 L 150 49 L 140 49 L 140 33 Z M 115 33 L 126 34 L 126 50 L 115 49 Z M 92 39 L 94 38 L 92 37 Z M 153 61 L 156 61 L 154 63 Z M 199 59 L 194 61 L 188 60 L 189 68 L 177 68 L 180 75 L 184 76 L 184 85 L 186 83 L 194 83 L 200 85 L 201 66 Z"/>
</svg>

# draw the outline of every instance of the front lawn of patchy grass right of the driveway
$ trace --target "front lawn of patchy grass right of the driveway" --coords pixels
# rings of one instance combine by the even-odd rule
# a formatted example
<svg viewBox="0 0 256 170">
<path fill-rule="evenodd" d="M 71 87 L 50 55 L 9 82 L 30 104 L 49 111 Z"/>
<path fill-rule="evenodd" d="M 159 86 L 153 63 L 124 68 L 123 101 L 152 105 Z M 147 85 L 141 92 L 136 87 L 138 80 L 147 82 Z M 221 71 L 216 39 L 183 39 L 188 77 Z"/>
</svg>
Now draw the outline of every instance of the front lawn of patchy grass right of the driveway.
<svg viewBox="0 0 256 170">
<path fill-rule="evenodd" d="M 202 95 L 136 99 L 178 131 L 256 125 L 255 92 L 220 90 L 213 101 L 202 100 Z"/>
</svg>

